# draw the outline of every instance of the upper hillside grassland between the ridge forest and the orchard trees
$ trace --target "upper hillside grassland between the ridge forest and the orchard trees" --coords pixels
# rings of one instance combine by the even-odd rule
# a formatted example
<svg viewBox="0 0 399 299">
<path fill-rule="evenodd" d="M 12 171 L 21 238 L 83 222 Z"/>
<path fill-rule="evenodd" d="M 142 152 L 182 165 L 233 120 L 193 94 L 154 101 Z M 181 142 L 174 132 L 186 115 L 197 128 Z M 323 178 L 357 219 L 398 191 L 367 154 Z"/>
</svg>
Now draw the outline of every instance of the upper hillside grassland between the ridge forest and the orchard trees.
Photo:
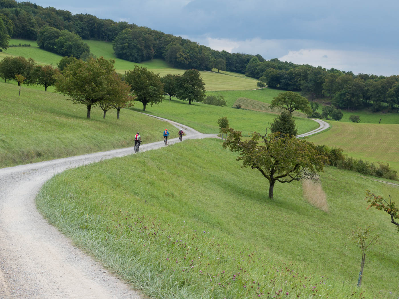
<svg viewBox="0 0 399 299">
<path fill-rule="evenodd" d="M 11 39 L 10 41 L 10 44 L 18 43 L 29 43 L 31 47 L 8 48 L 6 51 L 0 52 L 0 59 L 5 55 L 24 56 L 27 59 L 32 57 L 38 62 L 38 64 L 52 64 L 54 66 L 61 59 L 61 56 L 57 54 L 40 49 L 36 41 L 29 41 L 25 39 Z M 145 61 L 143 63 L 133 63 L 123 59 L 118 59 L 113 53 L 112 43 L 109 42 L 85 40 L 85 43 L 90 46 L 90 51 L 97 57 L 103 56 L 106 59 L 115 59 L 114 67 L 118 73 L 124 74 L 125 71 L 134 69 L 134 65 L 146 67 L 154 73 L 159 73 L 161 77 L 166 74 L 184 73 L 183 69 L 174 69 L 161 59 L 152 59 L 151 61 Z M 200 73 L 203 81 L 206 84 L 206 90 L 245 90 L 257 88 L 257 82 L 251 79 L 236 76 L 226 76 L 206 71 L 201 71 Z"/>
</svg>

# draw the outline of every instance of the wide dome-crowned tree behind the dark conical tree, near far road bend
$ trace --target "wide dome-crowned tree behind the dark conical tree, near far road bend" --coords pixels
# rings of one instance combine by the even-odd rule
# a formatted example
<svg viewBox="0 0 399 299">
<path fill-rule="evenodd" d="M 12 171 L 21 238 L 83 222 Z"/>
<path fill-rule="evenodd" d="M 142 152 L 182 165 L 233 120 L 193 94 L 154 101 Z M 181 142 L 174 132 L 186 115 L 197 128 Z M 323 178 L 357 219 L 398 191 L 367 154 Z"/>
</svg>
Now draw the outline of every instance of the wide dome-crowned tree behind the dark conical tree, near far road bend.
<svg viewBox="0 0 399 299">
<path fill-rule="evenodd" d="M 290 112 L 300 110 L 305 114 L 312 114 L 309 101 L 293 91 L 280 92 L 271 102 L 270 108 L 282 108 Z"/>
</svg>

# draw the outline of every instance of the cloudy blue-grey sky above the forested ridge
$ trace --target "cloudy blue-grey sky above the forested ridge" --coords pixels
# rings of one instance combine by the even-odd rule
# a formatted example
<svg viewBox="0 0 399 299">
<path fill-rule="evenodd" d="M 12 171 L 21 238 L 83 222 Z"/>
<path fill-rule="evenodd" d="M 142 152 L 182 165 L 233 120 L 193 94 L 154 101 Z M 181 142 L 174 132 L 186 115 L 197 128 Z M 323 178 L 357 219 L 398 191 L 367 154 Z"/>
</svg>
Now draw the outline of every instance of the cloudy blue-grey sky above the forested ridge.
<svg viewBox="0 0 399 299">
<path fill-rule="evenodd" d="M 43 0 L 215 50 L 355 74 L 399 75 L 398 0 Z"/>
</svg>

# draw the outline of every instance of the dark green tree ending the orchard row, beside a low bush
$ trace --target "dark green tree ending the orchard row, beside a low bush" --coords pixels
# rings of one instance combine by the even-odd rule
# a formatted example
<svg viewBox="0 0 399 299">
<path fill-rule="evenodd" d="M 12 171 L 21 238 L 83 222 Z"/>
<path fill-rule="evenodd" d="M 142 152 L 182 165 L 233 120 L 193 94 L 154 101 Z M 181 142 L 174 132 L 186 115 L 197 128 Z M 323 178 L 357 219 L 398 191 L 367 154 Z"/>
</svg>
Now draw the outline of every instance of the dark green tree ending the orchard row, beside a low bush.
<svg viewBox="0 0 399 299">
<path fill-rule="evenodd" d="M 205 98 L 205 83 L 199 77 L 199 71 L 196 69 L 189 69 L 178 80 L 177 97 L 180 100 L 202 102 Z"/>
</svg>

